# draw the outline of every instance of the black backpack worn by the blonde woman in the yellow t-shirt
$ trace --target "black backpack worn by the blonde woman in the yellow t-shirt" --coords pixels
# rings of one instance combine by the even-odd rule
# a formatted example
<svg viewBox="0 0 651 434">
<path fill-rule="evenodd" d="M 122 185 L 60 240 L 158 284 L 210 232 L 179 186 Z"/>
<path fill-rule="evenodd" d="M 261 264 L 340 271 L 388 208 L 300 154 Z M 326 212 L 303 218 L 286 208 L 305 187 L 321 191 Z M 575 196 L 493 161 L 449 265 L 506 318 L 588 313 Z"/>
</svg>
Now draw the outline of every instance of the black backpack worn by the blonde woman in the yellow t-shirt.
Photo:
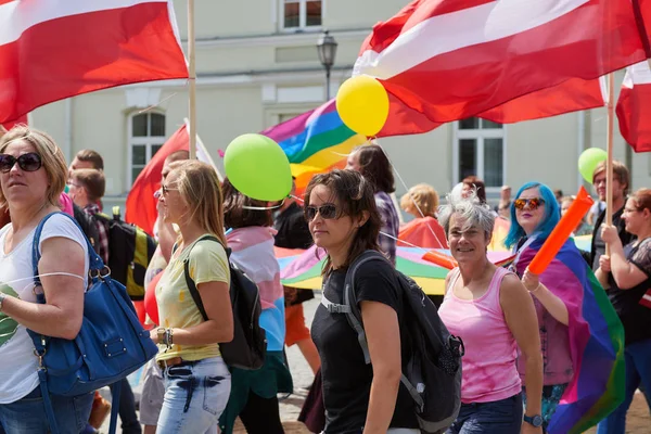
<svg viewBox="0 0 651 434">
<path fill-rule="evenodd" d="M 200 240 L 209 240 L 219 243 L 219 240 L 206 235 Z M 175 245 L 176 250 L 176 245 Z M 230 260 L 231 250 L 226 248 L 230 266 L 230 297 L 233 308 L 233 340 L 219 344 L 219 352 L 226 365 L 232 368 L 246 370 L 260 369 L 265 363 L 267 352 L 267 336 L 265 329 L 260 328 L 260 293 L 257 284 L 244 271 Z M 204 320 L 207 320 L 206 310 L 201 301 L 194 281 L 190 277 L 190 255 L 184 260 L 186 284 Z"/>
</svg>

